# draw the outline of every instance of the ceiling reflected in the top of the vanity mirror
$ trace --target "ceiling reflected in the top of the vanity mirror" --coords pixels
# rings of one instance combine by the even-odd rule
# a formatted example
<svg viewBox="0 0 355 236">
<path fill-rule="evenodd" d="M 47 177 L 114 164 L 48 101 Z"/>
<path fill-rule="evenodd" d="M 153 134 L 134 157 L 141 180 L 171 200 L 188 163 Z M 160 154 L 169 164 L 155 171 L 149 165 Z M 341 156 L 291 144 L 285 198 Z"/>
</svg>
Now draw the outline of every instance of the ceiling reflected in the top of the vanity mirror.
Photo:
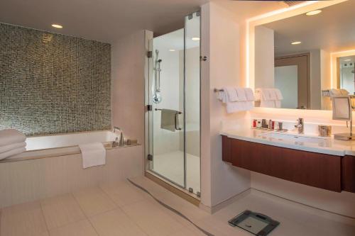
<svg viewBox="0 0 355 236">
<path fill-rule="evenodd" d="M 264 25 L 275 30 L 275 54 L 315 49 L 337 52 L 355 47 L 355 1 L 322 9 L 315 16 L 293 16 Z M 301 41 L 300 45 L 290 45 Z"/>
</svg>

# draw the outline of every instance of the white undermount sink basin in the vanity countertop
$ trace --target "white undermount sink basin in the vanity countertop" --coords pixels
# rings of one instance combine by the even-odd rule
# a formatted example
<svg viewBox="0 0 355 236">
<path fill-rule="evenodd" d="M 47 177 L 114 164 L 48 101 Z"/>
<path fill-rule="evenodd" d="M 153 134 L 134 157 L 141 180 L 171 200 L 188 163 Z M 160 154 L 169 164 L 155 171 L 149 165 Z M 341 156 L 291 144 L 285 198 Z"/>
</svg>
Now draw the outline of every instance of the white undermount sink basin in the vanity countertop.
<svg viewBox="0 0 355 236">
<path fill-rule="evenodd" d="M 293 134 L 293 133 L 270 132 L 270 133 L 263 133 L 259 136 L 264 139 L 267 138 L 269 140 L 295 142 L 296 144 L 300 144 L 300 145 L 302 145 L 302 142 L 320 144 L 322 142 L 327 141 L 326 139 L 324 139 L 322 137 L 307 137 L 305 135 L 297 135 L 297 134 Z"/>
</svg>

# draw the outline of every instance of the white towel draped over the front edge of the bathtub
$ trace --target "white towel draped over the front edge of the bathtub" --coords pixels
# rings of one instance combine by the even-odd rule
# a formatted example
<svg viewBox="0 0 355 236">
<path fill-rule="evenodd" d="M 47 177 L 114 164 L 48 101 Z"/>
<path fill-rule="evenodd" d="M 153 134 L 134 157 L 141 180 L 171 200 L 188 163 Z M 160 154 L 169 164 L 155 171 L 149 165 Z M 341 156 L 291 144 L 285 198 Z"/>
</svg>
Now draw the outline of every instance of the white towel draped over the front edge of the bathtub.
<svg viewBox="0 0 355 236">
<path fill-rule="evenodd" d="M 106 149 L 102 142 L 79 145 L 82 150 L 82 168 L 106 164 Z"/>
</svg>

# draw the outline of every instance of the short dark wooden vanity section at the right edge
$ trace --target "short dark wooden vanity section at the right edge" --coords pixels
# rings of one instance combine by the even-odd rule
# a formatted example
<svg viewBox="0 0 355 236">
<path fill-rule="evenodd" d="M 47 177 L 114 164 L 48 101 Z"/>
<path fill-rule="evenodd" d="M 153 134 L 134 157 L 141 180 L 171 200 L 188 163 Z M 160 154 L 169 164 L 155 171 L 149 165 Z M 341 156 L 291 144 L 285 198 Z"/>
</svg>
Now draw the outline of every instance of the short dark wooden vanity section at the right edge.
<svg viewBox="0 0 355 236">
<path fill-rule="evenodd" d="M 342 189 L 355 193 L 355 157 L 342 158 Z"/>
</svg>

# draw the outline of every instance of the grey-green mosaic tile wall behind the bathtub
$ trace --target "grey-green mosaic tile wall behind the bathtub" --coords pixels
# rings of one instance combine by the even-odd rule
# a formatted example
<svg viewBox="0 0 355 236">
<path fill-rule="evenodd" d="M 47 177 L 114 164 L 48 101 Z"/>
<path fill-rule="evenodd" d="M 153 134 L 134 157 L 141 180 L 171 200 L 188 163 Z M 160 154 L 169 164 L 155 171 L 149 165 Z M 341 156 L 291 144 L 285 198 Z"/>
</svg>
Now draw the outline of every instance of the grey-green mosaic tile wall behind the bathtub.
<svg viewBox="0 0 355 236">
<path fill-rule="evenodd" d="M 111 128 L 111 45 L 0 23 L 0 130 Z"/>
</svg>

